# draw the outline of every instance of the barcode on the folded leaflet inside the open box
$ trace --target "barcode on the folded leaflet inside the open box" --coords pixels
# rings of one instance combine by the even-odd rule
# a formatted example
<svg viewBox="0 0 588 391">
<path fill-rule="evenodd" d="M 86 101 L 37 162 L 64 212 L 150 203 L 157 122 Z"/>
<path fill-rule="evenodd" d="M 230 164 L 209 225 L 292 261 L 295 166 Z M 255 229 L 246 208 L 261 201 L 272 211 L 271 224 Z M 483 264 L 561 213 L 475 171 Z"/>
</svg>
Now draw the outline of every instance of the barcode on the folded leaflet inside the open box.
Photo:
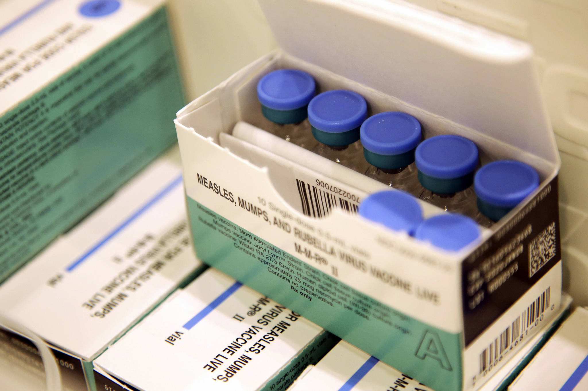
<svg viewBox="0 0 588 391">
<path fill-rule="evenodd" d="M 338 208 L 349 213 L 358 213 L 358 204 L 338 197 L 332 193 L 316 188 L 310 183 L 296 179 L 302 213 L 310 217 L 325 217 L 333 208 Z"/>
</svg>

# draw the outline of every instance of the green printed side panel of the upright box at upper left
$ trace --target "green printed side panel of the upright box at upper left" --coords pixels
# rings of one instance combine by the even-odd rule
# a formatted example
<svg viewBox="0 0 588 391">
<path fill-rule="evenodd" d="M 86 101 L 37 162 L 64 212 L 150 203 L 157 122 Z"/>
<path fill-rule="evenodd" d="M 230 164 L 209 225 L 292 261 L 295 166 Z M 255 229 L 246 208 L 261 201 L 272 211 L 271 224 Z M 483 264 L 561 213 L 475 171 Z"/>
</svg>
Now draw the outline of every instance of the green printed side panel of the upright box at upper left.
<svg viewBox="0 0 588 391">
<path fill-rule="evenodd" d="M 0 281 L 176 141 L 165 8 L 0 118 Z"/>
</svg>

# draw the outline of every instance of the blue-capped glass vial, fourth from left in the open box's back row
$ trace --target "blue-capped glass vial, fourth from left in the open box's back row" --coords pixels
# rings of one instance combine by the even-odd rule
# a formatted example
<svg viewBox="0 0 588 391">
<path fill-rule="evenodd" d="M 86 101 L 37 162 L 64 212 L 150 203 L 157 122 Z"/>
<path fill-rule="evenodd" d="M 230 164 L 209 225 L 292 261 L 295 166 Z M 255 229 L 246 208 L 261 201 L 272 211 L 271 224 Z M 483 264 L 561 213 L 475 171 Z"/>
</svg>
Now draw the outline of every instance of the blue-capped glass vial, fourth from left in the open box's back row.
<svg viewBox="0 0 588 391">
<path fill-rule="evenodd" d="M 452 134 L 431 137 L 416 147 L 415 163 L 423 186 L 420 199 L 446 212 L 482 220 L 472 189 L 478 164 L 476 144 Z"/>
</svg>

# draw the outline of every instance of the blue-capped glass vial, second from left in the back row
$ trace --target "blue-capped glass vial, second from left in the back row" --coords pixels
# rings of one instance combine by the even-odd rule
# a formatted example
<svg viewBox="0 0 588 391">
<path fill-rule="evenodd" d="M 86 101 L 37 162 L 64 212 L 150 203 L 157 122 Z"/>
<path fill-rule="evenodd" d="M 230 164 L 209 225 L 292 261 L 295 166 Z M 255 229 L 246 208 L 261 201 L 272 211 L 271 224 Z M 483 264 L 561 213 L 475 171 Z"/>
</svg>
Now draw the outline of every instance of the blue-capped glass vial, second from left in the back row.
<svg viewBox="0 0 588 391">
<path fill-rule="evenodd" d="M 312 135 L 319 142 L 313 152 L 364 174 L 368 164 L 363 159 L 359 127 L 367 117 L 368 104 L 354 91 L 318 94 L 308 104 Z"/>
</svg>

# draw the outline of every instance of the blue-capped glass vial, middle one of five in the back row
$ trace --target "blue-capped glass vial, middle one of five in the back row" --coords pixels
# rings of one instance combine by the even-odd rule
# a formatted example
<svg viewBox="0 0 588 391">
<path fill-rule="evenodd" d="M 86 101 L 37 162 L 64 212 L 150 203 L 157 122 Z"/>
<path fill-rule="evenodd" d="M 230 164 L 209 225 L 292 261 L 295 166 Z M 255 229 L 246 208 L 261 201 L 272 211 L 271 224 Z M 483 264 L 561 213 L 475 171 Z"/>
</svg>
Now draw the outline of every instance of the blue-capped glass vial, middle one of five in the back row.
<svg viewBox="0 0 588 391">
<path fill-rule="evenodd" d="M 387 111 L 372 115 L 359 130 L 363 156 L 370 164 L 365 175 L 419 196 L 415 148 L 421 140 L 419 121 L 410 114 Z"/>
</svg>

